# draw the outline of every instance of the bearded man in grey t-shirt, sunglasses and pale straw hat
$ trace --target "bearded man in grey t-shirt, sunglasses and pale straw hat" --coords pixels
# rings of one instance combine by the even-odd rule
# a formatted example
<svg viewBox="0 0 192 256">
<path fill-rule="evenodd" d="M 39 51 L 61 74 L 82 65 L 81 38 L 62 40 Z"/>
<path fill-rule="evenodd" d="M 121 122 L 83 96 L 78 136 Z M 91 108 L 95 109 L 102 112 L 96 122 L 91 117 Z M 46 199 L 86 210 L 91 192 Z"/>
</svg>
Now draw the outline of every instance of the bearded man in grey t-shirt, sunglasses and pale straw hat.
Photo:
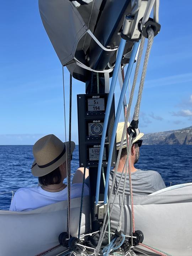
<svg viewBox="0 0 192 256">
<path fill-rule="evenodd" d="M 128 123 L 129 126 L 129 123 Z M 123 127 L 124 122 L 118 123 L 117 127 L 117 134 L 116 134 L 116 142 L 117 142 L 117 155 L 119 152 L 119 147 L 121 143 L 122 133 L 123 133 Z M 128 134 L 127 134 L 128 135 Z M 131 147 L 130 151 L 130 170 L 131 170 L 131 180 L 132 180 L 132 188 L 133 188 L 133 194 L 151 194 L 155 191 L 161 190 L 162 188 L 165 188 L 165 183 L 161 178 L 161 175 L 156 171 L 143 171 L 140 169 L 136 169 L 134 167 L 134 164 L 137 163 L 139 160 L 139 148 L 142 145 L 141 138 L 143 137 L 143 133 L 139 133 L 139 135 L 133 140 L 133 145 Z M 113 193 L 116 192 L 117 186 L 120 181 L 121 173 L 123 171 L 123 167 L 126 163 L 127 159 L 127 142 L 126 142 L 126 136 L 124 137 L 123 142 L 123 148 L 121 152 L 121 158 L 119 161 L 118 169 L 117 169 L 117 176 L 113 188 Z M 110 187 L 113 180 L 114 170 L 110 172 Z M 127 174 L 126 182 L 129 183 L 129 176 Z M 124 183 L 124 176 L 121 181 L 121 185 L 119 187 L 118 194 L 122 194 L 123 192 L 123 183 Z M 126 186 L 125 194 L 129 195 L 129 186 Z"/>
</svg>

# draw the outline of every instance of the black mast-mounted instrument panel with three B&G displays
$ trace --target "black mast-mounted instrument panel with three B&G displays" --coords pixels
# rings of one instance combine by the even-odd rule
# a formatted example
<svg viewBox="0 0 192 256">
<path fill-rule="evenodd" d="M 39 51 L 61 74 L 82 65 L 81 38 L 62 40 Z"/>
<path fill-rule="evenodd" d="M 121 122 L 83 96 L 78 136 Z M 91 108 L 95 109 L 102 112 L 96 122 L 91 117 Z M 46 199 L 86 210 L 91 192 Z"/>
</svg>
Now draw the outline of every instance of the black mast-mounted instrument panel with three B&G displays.
<svg viewBox="0 0 192 256">
<path fill-rule="evenodd" d="M 82 167 L 97 166 L 108 94 L 80 94 L 78 100 L 79 163 Z M 114 125 L 114 97 L 110 111 L 102 166 L 107 166 L 110 139 Z M 110 131 L 110 132 L 109 132 Z M 112 165 L 116 162 L 116 145 L 113 148 Z"/>
</svg>

